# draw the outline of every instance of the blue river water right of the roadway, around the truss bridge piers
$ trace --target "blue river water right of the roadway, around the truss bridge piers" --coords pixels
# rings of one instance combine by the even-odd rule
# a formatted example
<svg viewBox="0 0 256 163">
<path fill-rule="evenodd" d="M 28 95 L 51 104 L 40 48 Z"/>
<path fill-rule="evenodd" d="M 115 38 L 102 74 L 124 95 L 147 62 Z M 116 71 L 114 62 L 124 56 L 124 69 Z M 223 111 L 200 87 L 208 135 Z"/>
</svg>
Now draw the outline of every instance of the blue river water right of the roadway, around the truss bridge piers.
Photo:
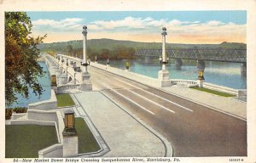
<svg viewBox="0 0 256 163">
<path fill-rule="evenodd" d="M 106 61 L 99 61 L 99 64 L 106 64 Z M 125 69 L 125 60 L 110 60 L 110 65 L 119 69 Z M 170 60 L 167 69 L 170 72 L 171 79 L 197 79 L 197 63 L 196 61 L 183 61 L 180 69 L 177 69 L 174 60 Z M 235 89 L 247 88 L 247 77 L 241 76 L 241 64 L 206 61 L 206 68 L 204 72 L 205 81 L 217 84 L 224 87 L 231 87 Z M 143 61 L 131 60 L 132 72 L 150 76 L 158 77 L 158 71 L 161 70 L 160 63 L 145 64 Z"/>
</svg>

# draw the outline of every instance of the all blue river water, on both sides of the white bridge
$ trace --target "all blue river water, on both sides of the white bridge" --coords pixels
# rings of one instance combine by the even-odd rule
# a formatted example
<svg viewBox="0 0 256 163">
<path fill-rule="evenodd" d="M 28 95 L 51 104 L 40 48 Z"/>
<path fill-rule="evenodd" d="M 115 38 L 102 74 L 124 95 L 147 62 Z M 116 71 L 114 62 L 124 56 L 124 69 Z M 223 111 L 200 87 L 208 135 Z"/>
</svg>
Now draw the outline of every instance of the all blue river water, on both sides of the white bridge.
<svg viewBox="0 0 256 163">
<path fill-rule="evenodd" d="M 99 61 L 99 64 L 106 65 L 106 61 Z M 29 90 L 29 97 L 23 98 L 19 94 L 17 104 L 13 104 L 10 108 L 20 106 L 27 107 L 27 104 L 43 101 L 50 98 L 50 80 L 49 72 L 47 66 L 44 62 L 39 62 L 39 65 L 43 67 L 44 76 L 38 77 L 38 82 L 42 85 L 44 92 L 40 96 L 35 96 L 32 93 L 32 89 Z M 119 69 L 125 69 L 125 60 L 111 60 L 110 65 Z M 247 88 L 247 78 L 246 76 L 241 76 L 240 65 L 237 63 L 224 63 L 224 62 L 206 62 L 205 69 L 205 80 L 212 84 L 217 84 L 224 87 L 232 87 L 235 89 L 246 89 Z M 142 74 L 144 76 L 150 76 L 157 78 L 158 71 L 161 69 L 160 63 L 150 63 L 145 64 L 143 61 L 132 60 L 131 61 L 131 71 Z M 195 61 L 189 61 L 189 63 L 183 63 L 181 69 L 177 69 L 174 61 L 167 65 L 167 69 L 170 72 L 171 79 L 188 79 L 196 80 L 197 78 L 197 68 Z"/>
</svg>

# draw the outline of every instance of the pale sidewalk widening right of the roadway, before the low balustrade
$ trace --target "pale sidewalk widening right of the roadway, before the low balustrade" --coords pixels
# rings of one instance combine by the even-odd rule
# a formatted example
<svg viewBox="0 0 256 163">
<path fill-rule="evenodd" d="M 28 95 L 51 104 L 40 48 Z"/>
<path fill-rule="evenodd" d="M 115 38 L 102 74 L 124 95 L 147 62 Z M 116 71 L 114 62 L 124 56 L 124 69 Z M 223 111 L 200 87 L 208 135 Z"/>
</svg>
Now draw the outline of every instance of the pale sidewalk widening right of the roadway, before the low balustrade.
<svg viewBox="0 0 256 163">
<path fill-rule="evenodd" d="M 225 98 L 188 87 L 172 86 L 160 89 L 187 98 L 195 103 L 204 104 L 212 109 L 235 115 L 244 120 L 247 119 L 247 103 L 236 98 Z"/>
</svg>

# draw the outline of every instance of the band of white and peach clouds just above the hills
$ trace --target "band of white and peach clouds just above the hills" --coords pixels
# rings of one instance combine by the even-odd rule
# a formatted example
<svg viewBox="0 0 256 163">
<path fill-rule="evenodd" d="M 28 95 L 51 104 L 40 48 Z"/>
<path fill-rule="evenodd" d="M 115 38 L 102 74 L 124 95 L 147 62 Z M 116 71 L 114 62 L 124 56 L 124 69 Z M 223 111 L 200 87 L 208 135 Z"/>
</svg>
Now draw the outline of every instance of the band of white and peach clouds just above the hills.
<svg viewBox="0 0 256 163">
<path fill-rule="evenodd" d="M 75 37 L 81 39 L 82 23 L 84 24 L 83 20 L 79 18 L 36 20 L 32 22 L 38 33 L 44 31 L 50 37 L 50 34 L 56 35 L 59 32 L 63 35 L 72 35 L 74 39 Z M 160 42 L 161 27 L 165 26 L 168 33 L 168 42 L 246 42 L 246 24 L 224 23 L 218 20 L 207 22 L 176 19 L 155 20 L 151 17 L 129 16 L 120 20 L 96 20 L 86 24 L 90 38 L 108 37 L 140 42 Z"/>
</svg>

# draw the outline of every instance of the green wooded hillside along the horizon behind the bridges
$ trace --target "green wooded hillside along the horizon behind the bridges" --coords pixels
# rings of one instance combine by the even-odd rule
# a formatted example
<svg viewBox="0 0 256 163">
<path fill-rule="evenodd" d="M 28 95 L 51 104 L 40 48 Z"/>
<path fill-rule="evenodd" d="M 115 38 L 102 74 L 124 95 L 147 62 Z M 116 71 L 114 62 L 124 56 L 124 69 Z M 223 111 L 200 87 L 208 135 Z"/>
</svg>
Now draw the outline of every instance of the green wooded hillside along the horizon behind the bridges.
<svg viewBox="0 0 256 163">
<path fill-rule="evenodd" d="M 137 49 L 160 49 L 161 42 L 131 42 L 112 39 L 91 39 L 87 42 L 90 58 L 97 56 L 98 59 L 132 59 Z M 82 55 L 83 41 L 43 43 L 38 48 L 43 52 L 67 53 L 69 55 Z M 222 42 L 220 44 L 179 44 L 166 43 L 166 49 L 178 48 L 236 48 L 246 49 L 245 43 Z"/>
</svg>

